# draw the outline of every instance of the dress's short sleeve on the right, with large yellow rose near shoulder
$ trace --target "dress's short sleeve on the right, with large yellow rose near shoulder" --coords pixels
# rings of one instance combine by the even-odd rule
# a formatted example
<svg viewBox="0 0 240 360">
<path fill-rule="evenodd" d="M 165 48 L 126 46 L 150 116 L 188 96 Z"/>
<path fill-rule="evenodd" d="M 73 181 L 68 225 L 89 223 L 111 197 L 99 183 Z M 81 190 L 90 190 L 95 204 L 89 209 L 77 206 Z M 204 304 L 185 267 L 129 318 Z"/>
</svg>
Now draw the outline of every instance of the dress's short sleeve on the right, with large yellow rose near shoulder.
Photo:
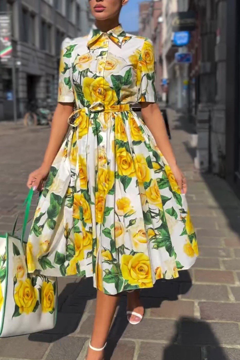
<svg viewBox="0 0 240 360">
<path fill-rule="evenodd" d="M 138 102 L 155 103 L 157 101 L 154 63 L 153 43 L 149 39 L 145 39 L 137 65 Z"/>
</svg>

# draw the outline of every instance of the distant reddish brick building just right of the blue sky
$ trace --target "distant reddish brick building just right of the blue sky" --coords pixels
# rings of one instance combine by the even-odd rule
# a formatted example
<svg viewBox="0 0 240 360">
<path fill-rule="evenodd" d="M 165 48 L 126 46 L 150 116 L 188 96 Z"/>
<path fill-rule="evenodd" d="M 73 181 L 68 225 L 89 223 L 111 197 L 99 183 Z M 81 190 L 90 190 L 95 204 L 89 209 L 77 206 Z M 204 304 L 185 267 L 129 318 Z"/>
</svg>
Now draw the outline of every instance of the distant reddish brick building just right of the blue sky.
<svg viewBox="0 0 240 360">
<path fill-rule="evenodd" d="M 139 4 L 139 35 L 153 41 L 155 50 L 156 90 L 162 98 L 162 0 L 143 1 Z"/>
</svg>

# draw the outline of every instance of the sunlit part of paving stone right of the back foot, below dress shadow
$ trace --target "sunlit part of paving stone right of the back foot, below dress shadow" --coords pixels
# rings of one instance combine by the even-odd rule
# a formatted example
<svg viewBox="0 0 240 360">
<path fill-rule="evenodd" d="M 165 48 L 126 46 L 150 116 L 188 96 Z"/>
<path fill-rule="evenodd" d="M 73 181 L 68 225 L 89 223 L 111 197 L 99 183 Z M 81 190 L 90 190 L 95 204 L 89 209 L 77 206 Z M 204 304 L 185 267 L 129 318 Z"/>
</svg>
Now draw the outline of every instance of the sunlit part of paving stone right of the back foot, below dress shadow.
<svg viewBox="0 0 240 360">
<path fill-rule="evenodd" d="M 181 316 L 194 316 L 194 301 L 163 301 L 159 308 L 153 308 L 150 316 L 155 318 L 179 319 Z"/>
</svg>

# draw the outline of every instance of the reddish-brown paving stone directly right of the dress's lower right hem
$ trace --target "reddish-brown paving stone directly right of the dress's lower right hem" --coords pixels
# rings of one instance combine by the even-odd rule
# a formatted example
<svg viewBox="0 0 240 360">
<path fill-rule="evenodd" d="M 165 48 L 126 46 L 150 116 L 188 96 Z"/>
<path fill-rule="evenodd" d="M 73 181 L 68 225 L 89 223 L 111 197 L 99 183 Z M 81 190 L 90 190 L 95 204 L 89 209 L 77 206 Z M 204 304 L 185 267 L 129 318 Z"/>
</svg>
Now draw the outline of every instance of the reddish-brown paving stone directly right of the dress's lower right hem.
<svg viewBox="0 0 240 360">
<path fill-rule="evenodd" d="M 201 283 L 235 284 L 232 271 L 223 270 L 194 270 L 194 279 Z"/>
</svg>

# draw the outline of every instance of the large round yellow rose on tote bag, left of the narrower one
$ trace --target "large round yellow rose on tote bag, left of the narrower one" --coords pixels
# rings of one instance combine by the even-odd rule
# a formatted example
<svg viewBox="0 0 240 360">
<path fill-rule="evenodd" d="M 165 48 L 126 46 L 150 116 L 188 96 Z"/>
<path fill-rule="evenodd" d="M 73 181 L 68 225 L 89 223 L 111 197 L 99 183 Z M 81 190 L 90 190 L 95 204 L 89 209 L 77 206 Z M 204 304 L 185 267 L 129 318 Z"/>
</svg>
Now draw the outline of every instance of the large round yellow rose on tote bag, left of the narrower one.
<svg viewBox="0 0 240 360">
<path fill-rule="evenodd" d="M 23 312 L 30 314 L 33 311 L 37 302 L 37 294 L 37 289 L 32 286 L 30 279 L 24 282 L 19 281 L 18 286 L 15 288 L 14 300 L 19 307 L 20 314 Z"/>
</svg>

